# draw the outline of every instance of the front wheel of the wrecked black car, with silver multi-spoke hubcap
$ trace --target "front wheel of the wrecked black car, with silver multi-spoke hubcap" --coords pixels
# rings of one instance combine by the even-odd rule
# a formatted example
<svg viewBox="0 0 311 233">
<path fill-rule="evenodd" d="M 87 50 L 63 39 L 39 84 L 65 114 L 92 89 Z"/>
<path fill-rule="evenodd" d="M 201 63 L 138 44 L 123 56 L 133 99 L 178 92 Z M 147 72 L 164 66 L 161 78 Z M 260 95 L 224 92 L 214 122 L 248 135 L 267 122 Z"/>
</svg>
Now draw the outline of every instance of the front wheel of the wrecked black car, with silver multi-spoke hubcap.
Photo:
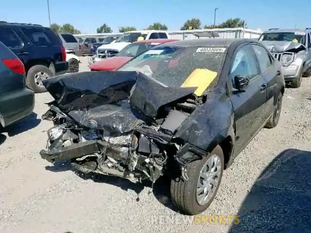
<svg viewBox="0 0 311 233">
<path fill-rule="evenodd" d="M 171 181 L 171 197 L 181 211 L 197 215 L 214 200 L 224 171 L 224 153 L 216 146 L 206 157 L 187 165 L 188 180 Z"/>
</svg>

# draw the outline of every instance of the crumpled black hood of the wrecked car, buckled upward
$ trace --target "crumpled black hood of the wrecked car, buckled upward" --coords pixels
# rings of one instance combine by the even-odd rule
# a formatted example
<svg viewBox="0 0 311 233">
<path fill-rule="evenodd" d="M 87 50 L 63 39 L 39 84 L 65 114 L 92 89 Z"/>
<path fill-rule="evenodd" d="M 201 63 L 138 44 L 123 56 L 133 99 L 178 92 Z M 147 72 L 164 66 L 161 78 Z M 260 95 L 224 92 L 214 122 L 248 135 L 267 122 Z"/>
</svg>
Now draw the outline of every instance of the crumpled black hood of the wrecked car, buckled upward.
<svg viewBox="0 0 311 233">
<path fill-rule="evenodd" d="M 92 71 L 43 81 L 53 104 L 81 125 L 126 133 L 153 120 L 159 108 L 197 87 L 172 88 L 137 71 Z"/>
</svg>

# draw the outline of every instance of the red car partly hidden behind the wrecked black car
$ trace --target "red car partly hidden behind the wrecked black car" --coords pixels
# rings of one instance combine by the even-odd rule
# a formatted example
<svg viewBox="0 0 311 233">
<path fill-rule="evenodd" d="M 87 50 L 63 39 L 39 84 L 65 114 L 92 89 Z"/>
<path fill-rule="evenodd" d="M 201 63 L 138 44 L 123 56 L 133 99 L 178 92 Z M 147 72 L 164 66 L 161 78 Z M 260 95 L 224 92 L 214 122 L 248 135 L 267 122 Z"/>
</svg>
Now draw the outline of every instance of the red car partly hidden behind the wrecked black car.
<svg viewBox="0 0 311 233">
<path fill-rule="evenodd" d="M 136 55 L 149 50 L 154 46 L 172 41 L 176 41 L 176 39 L 153 39 L 134 42 L 124 47 L 124 49 L 118 52 L 116 56 L 106 58 L 100 62 L 95 62 L 88 67 L 91 71 L 115 70 L 131 60 Z"/>
</svg>

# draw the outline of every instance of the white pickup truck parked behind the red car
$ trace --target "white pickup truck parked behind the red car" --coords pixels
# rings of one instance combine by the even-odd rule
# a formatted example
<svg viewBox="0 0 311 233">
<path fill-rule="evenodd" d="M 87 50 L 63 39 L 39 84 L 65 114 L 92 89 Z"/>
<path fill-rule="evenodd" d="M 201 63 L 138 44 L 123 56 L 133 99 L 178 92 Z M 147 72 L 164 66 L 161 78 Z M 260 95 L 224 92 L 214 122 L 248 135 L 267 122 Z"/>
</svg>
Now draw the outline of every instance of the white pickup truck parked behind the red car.
<svg viewBox="0 0 311 233">
<path fill-rule="evenodd" d="M 101 61 L 107 57 L 113 57 L 118 54 L 118 52 L 122 50 L 125 46 L 136 41 L 168 38 L 170 37 L 167 31 L 142 30 L 126 32 L 110 44 L 98 47 L 96 54 L 89 58 L 88 63 L 92 64 L 94 62 Z"/>
</svg>

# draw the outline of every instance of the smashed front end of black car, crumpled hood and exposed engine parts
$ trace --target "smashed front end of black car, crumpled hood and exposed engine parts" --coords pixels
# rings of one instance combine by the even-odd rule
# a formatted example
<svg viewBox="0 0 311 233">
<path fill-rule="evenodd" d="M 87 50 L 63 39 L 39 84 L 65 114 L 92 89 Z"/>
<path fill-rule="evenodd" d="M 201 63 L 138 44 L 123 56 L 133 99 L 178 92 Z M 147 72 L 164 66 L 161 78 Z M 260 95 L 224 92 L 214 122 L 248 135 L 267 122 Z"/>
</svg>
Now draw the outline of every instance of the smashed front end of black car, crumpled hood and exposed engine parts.
<svg viewBox="0 0 311 233">
<path fill-rule="evenodd" d="M 89 72 L 87 82 L 72 75 L 44 83 L 55 100 L 42 116 L 54 125 L 42 158 L 133 182 L 164 173 L 187 180 L 186 164 L 205 152 L 174 134 L 202 104 L 196 88 L 173 90 L 136 71 Z"/>
</svg>

